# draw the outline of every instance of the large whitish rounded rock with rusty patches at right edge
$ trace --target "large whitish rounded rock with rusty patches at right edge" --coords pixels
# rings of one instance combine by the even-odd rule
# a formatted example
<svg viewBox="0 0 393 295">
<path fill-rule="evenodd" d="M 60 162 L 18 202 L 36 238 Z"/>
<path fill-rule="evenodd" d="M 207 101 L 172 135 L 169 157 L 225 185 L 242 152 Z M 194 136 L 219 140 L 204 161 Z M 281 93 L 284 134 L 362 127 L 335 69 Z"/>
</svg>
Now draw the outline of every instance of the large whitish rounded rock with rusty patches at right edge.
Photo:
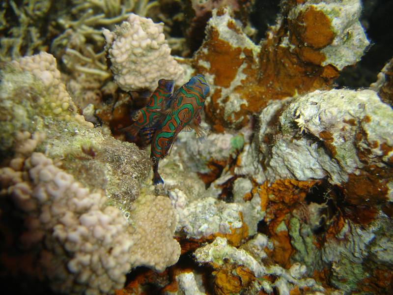
<svg viewBox="0 0 393 295">
<path fill-rule="evenodd" d="M 240 155 L 238 173 L 262 183 L 279 178 L 348 180 L 365 164 L 389 166 L 393 110 L 372 90 L 316 90 L 273 102 L 258 135 Z"/>
</svg>

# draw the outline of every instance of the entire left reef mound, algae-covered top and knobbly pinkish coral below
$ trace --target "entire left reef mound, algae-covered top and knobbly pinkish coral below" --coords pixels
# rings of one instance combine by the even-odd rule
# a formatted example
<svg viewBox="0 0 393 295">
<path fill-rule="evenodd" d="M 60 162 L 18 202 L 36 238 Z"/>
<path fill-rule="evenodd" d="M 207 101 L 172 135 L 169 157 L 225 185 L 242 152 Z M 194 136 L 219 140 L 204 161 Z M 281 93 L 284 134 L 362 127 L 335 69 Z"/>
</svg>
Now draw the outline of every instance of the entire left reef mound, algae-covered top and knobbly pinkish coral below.
<svg viewBox="0 0 393 295">
<path fill-rule="evenodd" d="M 174 264 L 180 248 L 170 201 L 140 195 L 150 168 L 143 151 L 77 114 L 51 55 L 13 61 L 1 74 L 1 202 L 12 200 L 7 218 L 24 224 L 2 249 L 21 252 L 2 263 L 29 255 L 30 275 L 67 294 L 107 294 L 136 266 Z"/>
</svg>

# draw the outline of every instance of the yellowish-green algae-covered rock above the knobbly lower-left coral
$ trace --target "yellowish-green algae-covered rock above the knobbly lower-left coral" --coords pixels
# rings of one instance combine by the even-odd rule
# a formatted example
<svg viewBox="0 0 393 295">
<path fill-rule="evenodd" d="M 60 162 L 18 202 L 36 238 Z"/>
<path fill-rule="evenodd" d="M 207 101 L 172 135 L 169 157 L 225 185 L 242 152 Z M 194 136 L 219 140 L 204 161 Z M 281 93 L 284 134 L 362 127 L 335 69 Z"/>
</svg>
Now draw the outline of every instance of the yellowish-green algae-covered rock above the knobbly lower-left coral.
<svg viewBox="0 0 393 295">
<path fill-rule="evenodd" d="M 14 154 L 19 132 L 40 132 L 45 139 L 36 151 L 84 185 L 104 190 L 110 204 L 130 210 L 148 175 L 149 159 L 134 144 L 103 134 L 78 114 L 51 55 L 41 53 L 3 67 L 0 114 L 2 159 Z"/>
</svg>

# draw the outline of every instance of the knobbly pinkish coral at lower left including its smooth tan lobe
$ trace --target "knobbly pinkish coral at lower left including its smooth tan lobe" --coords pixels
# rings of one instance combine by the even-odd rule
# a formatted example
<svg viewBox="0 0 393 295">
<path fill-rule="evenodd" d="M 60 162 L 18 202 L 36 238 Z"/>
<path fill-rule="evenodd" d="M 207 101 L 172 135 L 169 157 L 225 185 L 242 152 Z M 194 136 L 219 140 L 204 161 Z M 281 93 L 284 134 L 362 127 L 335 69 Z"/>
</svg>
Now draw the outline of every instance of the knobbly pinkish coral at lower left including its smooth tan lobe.
<svg viewBox="0 0 393 295">
<path fill-rule="evenodd" d="M 162 271 L 177 262 L 180 246 L 167 198 L 139 200 L 130 226 L 118 208 L 105 205 L 105 195 L 90 192 L 42 153 L 12 167 L 0 169 L 0 195 L 24 212 L 22 246 L 39 253 L 39 272 L 54 291 L 113 293 L 133 267 Z"/>
</svg>

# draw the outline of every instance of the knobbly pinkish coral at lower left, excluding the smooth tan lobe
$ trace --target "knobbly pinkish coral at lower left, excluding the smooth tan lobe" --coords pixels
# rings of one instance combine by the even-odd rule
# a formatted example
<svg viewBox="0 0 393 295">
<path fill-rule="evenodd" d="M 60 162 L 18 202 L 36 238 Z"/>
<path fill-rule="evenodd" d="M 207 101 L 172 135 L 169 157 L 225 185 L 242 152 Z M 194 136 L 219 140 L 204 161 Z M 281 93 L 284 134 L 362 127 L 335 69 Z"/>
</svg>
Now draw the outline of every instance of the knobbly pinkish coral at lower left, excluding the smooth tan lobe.
<svg viewBox="0 0 393 295">
<path fill-rule="evenodd" d="M 12 196 L 25 213 L 27 229 L 20 241 L 38 251 L 37 274 L 62 293 L 106 294 L 121 288 L 135 242 L 121 211 L 105 206 L 105 196 L 90 193 L 42 153 L 14 158 L 11 167 L 1 169 L 1 195 Z"/>
</svg>

